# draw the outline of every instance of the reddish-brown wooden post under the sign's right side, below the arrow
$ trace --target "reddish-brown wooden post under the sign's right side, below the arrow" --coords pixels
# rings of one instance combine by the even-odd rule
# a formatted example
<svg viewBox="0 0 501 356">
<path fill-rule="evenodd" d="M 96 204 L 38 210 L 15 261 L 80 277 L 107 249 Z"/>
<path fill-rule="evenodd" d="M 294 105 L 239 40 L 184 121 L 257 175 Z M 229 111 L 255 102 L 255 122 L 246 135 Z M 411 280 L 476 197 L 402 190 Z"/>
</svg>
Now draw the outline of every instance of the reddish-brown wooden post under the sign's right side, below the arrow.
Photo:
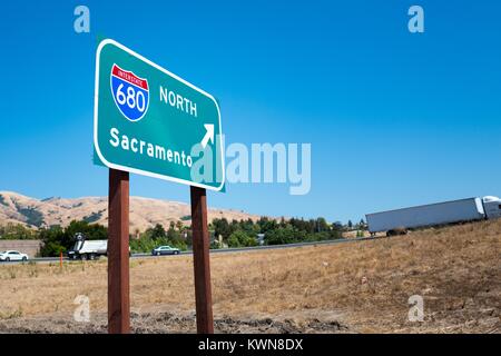
<svg viewBox="0 0 501 356">
<path fill-rule="evenodd" d="M 190 187 L 193 264 L 197 333 L 213 334 L 213 298 L 210 293 L 209 236 L 207 227 L 207 196 L 204 188 Z"/>
</svg>

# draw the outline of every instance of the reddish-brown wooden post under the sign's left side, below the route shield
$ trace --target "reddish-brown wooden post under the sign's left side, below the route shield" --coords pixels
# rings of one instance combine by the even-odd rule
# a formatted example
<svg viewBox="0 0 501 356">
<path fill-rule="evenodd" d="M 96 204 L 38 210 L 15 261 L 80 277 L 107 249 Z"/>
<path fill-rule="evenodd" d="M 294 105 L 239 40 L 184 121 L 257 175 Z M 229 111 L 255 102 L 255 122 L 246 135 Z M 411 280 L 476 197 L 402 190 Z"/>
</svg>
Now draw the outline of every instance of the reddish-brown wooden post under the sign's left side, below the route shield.
<svg viewBox="0 0 501 356">
<path fill-rule="evenodd" d="M 109 170 L 108 333 L 130 333 L 129 174 Z"/>
</svg>

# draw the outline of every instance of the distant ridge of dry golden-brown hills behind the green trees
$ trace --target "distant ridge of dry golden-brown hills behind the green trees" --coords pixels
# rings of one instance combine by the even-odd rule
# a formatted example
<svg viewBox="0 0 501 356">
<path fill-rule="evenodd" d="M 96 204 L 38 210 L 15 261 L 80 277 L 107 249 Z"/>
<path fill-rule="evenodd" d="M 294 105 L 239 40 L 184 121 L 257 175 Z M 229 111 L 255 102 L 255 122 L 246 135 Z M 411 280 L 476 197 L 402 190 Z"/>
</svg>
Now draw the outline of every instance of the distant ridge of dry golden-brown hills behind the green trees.
<svg viewBox="0 0 501 356">
<path fill-rule="evenodd" d="M 190 206 L 185 202 L 130 197 L 130 233 L 144 231 L 156 224 L 168 227 L 170 221 L 191 224 Z M 253 219 L 259 216 L 232 209 L 208 209 L 214 218 Z M 108 198 L 84 197 L 36 199 L 12 191 L 0 191 L 0 225 L 22 224 L 29 227 L 67 226 L 71 220 L 108 225 Z"/>
</svg>

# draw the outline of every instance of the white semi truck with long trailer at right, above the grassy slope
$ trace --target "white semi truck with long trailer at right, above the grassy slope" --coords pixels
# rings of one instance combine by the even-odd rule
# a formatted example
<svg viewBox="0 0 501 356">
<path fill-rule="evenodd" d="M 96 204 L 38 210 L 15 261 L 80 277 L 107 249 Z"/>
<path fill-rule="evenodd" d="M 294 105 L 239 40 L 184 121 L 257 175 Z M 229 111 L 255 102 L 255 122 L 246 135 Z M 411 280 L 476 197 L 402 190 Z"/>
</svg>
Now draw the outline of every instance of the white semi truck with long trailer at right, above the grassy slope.
<svg viewBox="0 0 501 356">
<path fill-rule="evenodd" d="M 407 229 L 501 217 L 498 197 L 468 198 L 411 208 L 365 215 L 371 234 L 386 231 L 387 236 L 405 234 Z"/>
</svg>

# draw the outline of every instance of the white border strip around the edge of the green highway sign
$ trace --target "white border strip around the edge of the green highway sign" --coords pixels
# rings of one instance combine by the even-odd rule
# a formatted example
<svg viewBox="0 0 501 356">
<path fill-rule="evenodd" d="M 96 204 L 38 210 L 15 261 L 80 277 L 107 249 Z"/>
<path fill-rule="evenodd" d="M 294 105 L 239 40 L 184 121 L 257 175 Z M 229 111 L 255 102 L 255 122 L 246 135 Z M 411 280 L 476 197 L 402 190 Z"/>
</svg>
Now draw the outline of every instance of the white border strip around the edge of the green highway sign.
<svg viewBox="0 0 501 356">
<path fill-rule="evenodd" d="M 170 177 L 170 176 L 164 176 L 164 175 L 159 175 L 159 174 L 154 174 L 147 170 L 141 170 L 141 169 L 137 169 L 137 168 L 132 168 L 132 167 L 127 167 L 127 166 L 120 166 L 120 165 L 115 165 L 109 162 L 108 160 L 105 159 L 105 157 L 102 156 L 100 149 L 99 149 L 99 145 L 98 145 L 98 107 L 99 107 L 99 65 L 100 65 L 100 53 L 101 50 L 107 44 L 112 44 L 118 47 L 119 49 L 126 51 L 127 53 L 136 57 L 137 59 L 146 62 L 147 65 L 163 71 L 164 73 L 166 73 L 167 76 L 170 76 L 171 78 L 183 82 L 184 85 L 190 87 L 191 89 L 198 91 L 199 93 L 206 96 L 207 98 L 209 98 L 210 100 L 214 101 L 214 103 L 216 105 L 217 108 L 217 115 L 218 115 L 218 119 L 219 119 L 219 142 L 220 142 L 220 156 L 222 156 L 222 165 L 223 165 L 223 180 L 219 187 L 213 187 L 213 186 L 208 186 L 208 185 L 204 185 L 204 184 L 198 184 L 198 182 L 194 182 L 190 180 L 185 180 L 185 179 L 180 179 L 180 178 L 175 178 L 175 177 Z M 111 39 L 106 39 L 102 40 L 96 51 L 96 77 L 95 77 L 95 100 L 94 100 L 94 147 L 96 148 L 96 152 L 99 156 L 99 159 L 105 164 L 105 166 L 112 168 L 112 169 L 118 169 L 118 170 L 125 170 L 125 171 L 129 171 L 131 174 L 137 174 L 137 175 L 143 175 L 143 176 L 147 176 L 147 177 L 151 177 L 151 178 L 158 178 L 158 179 L 164 179 L 164 180 L 169 180 L 169 181 L 175 181 L 175 182 L 179 182 L 179 184 L 184 184 L 184 185 L 188 185 L 188 186 L 194 186 L 194 187 L 199 187 L 199 188 L 205 188 L 205 189 L 209 189 L 209 190 L 215 190 L 215 191 L 219 191 L 224 184 L 225 184 L 225 152 L 224 152 L 224 147 L 223 147 L 223 127 L 220 125 L 220 110 L 219 110 L 219 106 L 217 105 L 216 99 L 209 95 L 208 92 L 195 87 L 194 85 L 191 85 L 190 82 L 184 80 L 183 78 L 179 78 L 178 76 L 169 72 L 167 69 L 161 68 L 160 66 L 151 62 L 150 60 L 146 59 L 145 57 L 136 53 L 135 51 L 128 49 L 127 47 L 118 43 L 115 40 Z"/>
</svg>

